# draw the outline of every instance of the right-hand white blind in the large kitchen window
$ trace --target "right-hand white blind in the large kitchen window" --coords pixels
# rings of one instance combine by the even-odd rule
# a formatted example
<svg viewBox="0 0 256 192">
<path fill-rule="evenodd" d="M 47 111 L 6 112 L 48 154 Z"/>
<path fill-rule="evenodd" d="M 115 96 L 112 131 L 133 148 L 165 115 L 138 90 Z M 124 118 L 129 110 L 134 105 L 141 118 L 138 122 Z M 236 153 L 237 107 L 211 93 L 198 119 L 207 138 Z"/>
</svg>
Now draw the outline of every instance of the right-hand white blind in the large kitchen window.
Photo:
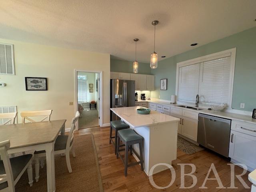
<svg viewBox="0 0 256 192">
<path fill-rule="evenodd" d="M 230 103 L 230 56 L 201 63 L 198 94 L 201 103 Z"/>
</svg>

